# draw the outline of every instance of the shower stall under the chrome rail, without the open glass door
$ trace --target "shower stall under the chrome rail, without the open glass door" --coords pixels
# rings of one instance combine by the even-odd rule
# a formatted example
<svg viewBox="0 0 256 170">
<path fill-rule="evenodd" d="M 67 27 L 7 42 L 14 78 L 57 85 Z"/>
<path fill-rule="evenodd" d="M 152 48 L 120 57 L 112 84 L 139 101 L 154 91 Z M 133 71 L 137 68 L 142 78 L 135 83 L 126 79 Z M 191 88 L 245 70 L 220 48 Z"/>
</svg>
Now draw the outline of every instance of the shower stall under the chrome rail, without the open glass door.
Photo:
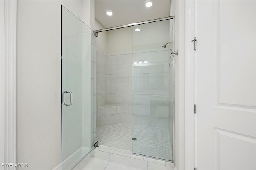
<svg viewBox="0 0 256 170">
<path fill-rule="evenodd" d="M 98 41 L 106 37 L 102 33 L 108 37 L 107 51 L 99 47 L 100 145 L 174 161 L 173 21 L 169 17 L 94 31 Z"/>
</svg>

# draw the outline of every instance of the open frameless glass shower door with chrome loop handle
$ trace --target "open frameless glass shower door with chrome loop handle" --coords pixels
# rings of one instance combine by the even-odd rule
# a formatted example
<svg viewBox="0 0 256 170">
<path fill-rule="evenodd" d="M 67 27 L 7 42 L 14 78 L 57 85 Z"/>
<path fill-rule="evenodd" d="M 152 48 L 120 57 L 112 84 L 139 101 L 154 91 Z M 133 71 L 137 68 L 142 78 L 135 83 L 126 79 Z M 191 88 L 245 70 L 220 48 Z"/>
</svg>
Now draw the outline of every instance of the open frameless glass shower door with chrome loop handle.
<svg viewBox="0 0 256 170">
<path fill-rule="evenodd" d="M 66 170 L 73 168 L 98 141 L 94 93 L 96 76 L 91 74 L 91 69 L 94 70 L 91 61 L 96 57 L 94 51 L 97 42 L 94 39 L 92 44 L 92 37 L 94 38 L 92 29 L 63 6 L 61 26 L 62 95 L 64 96 L 62 97 L 62 169 Z"/>
</svg>

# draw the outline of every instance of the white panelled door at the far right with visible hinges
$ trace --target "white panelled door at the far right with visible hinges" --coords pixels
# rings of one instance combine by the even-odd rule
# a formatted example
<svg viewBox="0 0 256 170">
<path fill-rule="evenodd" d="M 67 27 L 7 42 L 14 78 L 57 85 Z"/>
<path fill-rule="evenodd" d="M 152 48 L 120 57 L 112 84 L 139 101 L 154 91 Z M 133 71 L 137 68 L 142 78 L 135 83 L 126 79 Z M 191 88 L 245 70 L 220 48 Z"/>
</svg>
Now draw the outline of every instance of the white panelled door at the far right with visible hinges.
<svg viewBox="0 0 256 170">
<path fill-rule="evenodd" d="M 197 169 L 256 169 L 256 1 L 197 1 Z"/>
</svg>

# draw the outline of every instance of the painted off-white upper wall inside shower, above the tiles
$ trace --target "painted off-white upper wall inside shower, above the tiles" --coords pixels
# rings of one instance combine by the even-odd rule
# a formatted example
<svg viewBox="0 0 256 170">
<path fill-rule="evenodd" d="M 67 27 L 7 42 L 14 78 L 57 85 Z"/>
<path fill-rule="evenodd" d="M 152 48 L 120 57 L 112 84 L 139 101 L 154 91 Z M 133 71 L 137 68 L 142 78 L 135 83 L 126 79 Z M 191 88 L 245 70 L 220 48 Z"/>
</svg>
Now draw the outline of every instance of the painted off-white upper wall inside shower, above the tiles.
<svg viewBox="0 0 256 170">
<path fill-rule="evenodd" d="M 134 29 L 139 28 L 136 32 Z M 170 41 L 168 22 L 155 22 L 148 24 L 114 29 L 107 33 L 107 54 L 121 54 L 130 51 L 159 49 L 163 42 Z M 100 37 L 100 36 L 99 36 Z M 100 38 L 99 38 L 100 39 Z"/>
</svg>

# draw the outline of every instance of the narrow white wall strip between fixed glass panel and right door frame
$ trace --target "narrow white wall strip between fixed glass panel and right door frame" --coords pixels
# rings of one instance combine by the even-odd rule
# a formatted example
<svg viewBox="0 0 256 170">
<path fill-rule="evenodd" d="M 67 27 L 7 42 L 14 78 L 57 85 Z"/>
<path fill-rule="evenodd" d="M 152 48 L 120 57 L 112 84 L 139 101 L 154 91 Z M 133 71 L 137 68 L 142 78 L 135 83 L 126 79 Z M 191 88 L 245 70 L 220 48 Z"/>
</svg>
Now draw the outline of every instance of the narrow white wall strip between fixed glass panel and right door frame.
<svg viewBox="0 0 256 170">
<path fill-rule="evenodd" d="M 174 162 L 185 169 L 185 1 L 171 0 L 170 16 L 175 16 L 175 146 Z"/>
</svg>

